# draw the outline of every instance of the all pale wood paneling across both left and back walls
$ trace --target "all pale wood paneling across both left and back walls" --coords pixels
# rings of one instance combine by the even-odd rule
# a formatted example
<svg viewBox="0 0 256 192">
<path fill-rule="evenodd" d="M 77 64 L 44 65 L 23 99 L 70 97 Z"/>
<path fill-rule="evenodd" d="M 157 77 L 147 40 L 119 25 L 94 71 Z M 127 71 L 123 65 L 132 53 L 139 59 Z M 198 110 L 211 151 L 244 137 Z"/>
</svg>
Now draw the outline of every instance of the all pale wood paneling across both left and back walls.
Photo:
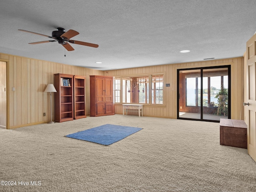
<svg viewBox="0 0 256 192">
<path fill-rule="evenodd" d="M 110 71 L 93 70 L 2 53 L 0 53 L 0 60 L 8 61 L 9 66 L 7 74 L 9 128 L 40 124 L 50 120 L 50 95 L 49 93 L 45 93 L 44 89 L 47 84 L 54 82 L 55 73 L 86 76 L 87 114 L 90 113 L 90 75 L 122 77 L 164 74 L 164 85 L 170 83 L 170 87 L 164 86 L 164 105 L 145 105 L 143 115 L 177 118 L 177 69 L 222 65 L 231 65 L 231 118 L 244 118 L 242 106 L 244 94 L 243 57 Z M 12 91 L 12 88 L 15 88 L 15 91 Z M 54 106 L 54 96 L 52 99 L 52 106 Z M 117 114 L 122 114 L 122 104 L 115 104 L 115 111 Z M 43 117 L 43 112 L 46 112 L 46 117 Z"/>
</svg>

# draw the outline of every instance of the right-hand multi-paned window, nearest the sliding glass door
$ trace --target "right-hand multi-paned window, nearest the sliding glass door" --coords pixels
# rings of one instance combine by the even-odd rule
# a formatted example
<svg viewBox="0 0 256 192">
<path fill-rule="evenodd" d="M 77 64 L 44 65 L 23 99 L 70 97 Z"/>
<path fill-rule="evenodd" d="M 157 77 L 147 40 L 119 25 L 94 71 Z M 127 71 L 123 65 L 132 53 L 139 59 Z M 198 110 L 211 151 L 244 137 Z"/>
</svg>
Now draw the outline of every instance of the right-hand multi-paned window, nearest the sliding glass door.
<svg viewBox="0 0 256 192">
<path fill-rule="evenodd" d="M 152 104 L 163 104 L 164 95 L 164 76 L 152 76 Z"/>
</svg>

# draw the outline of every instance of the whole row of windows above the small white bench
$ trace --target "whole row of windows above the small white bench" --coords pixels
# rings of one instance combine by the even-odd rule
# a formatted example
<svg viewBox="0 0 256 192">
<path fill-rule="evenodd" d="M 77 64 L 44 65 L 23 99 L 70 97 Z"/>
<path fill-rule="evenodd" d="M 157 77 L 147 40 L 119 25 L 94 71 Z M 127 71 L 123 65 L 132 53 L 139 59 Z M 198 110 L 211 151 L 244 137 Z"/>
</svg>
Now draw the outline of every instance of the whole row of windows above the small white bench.
<svg viewBox="0 0 256 192">
<path fill-rule="evenodd" d="M 163 88 L 163 74 L 118 77 L 115 78 L 115 102 L 163 104 Z"/>
</svg>

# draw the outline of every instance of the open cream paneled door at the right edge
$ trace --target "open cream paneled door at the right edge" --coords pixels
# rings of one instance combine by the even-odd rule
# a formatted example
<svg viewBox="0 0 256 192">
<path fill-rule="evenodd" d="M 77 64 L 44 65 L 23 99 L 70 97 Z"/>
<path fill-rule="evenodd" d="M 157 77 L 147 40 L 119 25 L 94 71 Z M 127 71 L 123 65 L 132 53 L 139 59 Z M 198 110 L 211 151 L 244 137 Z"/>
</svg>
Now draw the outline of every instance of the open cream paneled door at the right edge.
<svg viewBox="0 0 256 192">
<path fill-rule="evenodd" d="M 246 43 L 246 84 L 244 96 L 244 113 L 247 124 L 247 148 L 248 154 L 256 161 L 256 34 Z"/>
</svg>

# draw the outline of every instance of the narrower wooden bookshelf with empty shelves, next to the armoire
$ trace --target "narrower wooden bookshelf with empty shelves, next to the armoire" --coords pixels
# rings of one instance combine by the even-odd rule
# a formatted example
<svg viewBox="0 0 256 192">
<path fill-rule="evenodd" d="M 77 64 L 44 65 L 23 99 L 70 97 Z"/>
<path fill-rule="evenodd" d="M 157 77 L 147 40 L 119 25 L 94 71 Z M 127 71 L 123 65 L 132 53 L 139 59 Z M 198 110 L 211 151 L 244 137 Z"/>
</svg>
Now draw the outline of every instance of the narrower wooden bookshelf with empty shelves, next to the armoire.
<svg viewBox="0 0 256 192">
<path fill-rule="evenodd" d="M 84 76 L 74 76 L 74 119 L 86 118 Z"/>
</svg>

